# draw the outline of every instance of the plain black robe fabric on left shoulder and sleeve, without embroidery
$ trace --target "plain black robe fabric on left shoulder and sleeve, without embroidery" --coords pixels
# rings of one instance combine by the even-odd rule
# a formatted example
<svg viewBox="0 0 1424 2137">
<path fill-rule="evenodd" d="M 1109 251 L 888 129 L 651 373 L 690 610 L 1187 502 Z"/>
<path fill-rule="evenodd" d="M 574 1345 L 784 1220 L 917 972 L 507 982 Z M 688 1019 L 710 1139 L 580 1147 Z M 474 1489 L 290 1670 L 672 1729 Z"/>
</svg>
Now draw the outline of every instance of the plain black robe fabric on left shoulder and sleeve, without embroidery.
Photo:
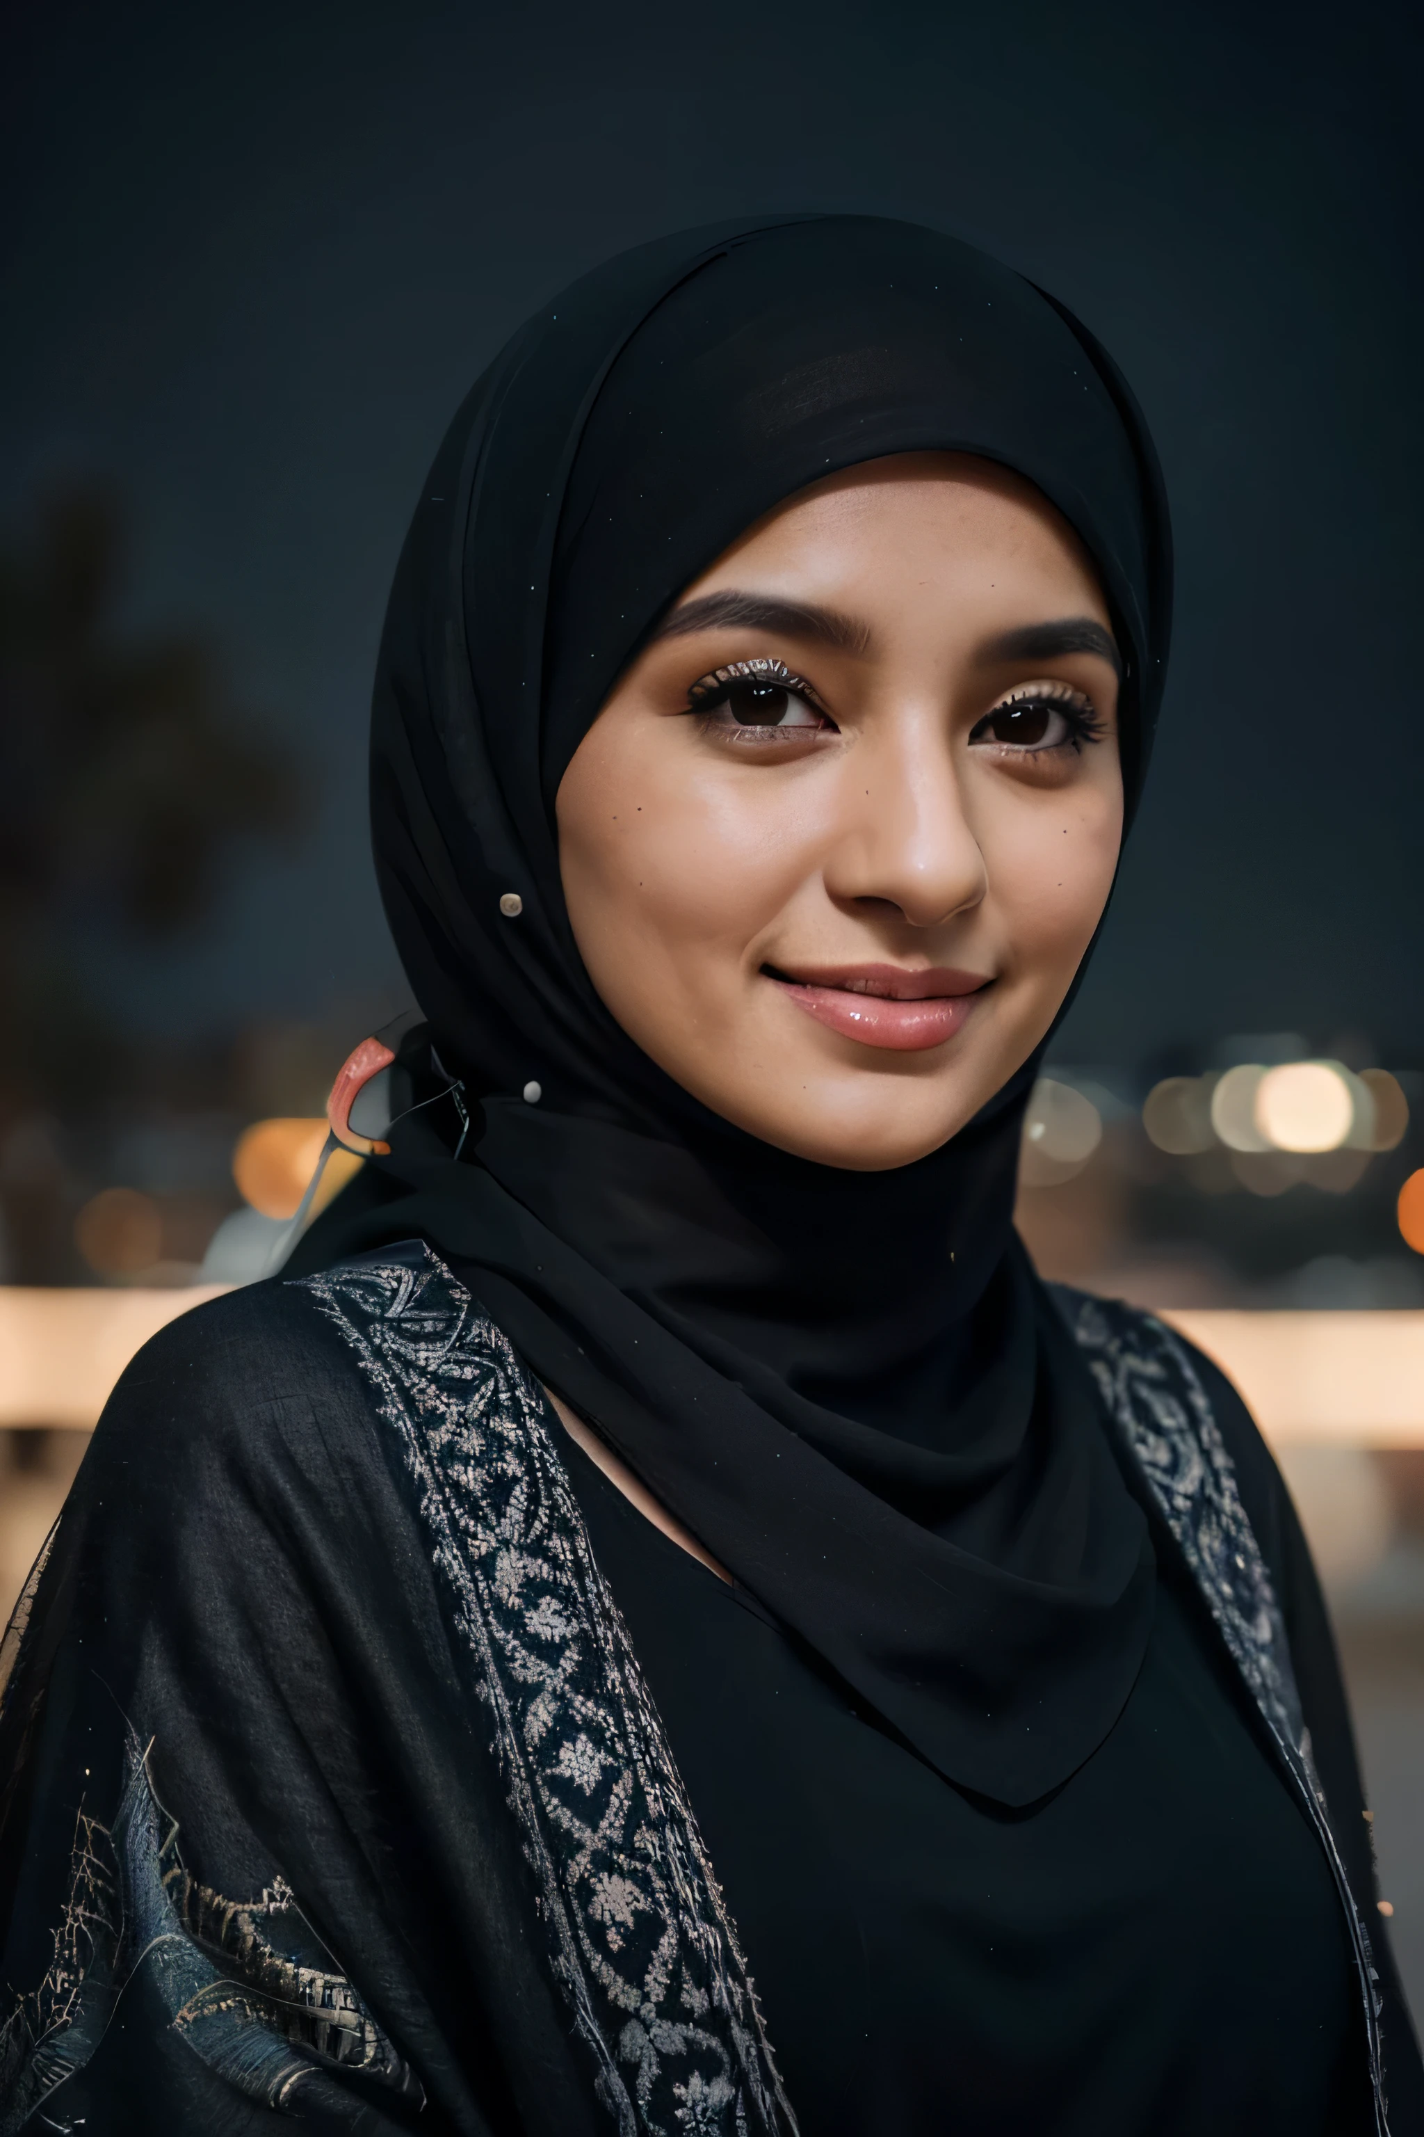
<svg viewBox="0 0 1424 2137">
<path fill-rule="evenodd" d="M 410 1496 L 369 1383 L 301 1289 L 216 1299 L 139 1353 L 0 1710 L 0 1979 L 32 1994 L 51 1968 L 79 1819 L 113 1827 L 132 1731 L 190 1874 L 235 1904 L 290 1883 L 427 2094 L 416 2111 L 333 2077 L 316 2128 L 594 2137 L 606 2124 Z M 107 1904 L 90 1900 L 85 1964 L 115 1913 L 102 1831 L 90 1855 Z M 135 1970 L 26 2137 L 290 2128 L 192 2054 L 162 1985 L 160 1966 Z M 58 1987 L 62 2005 L 73 1975 Z M 0 2064 L 6 2137 L 9 2109 Z"/>
</svg>

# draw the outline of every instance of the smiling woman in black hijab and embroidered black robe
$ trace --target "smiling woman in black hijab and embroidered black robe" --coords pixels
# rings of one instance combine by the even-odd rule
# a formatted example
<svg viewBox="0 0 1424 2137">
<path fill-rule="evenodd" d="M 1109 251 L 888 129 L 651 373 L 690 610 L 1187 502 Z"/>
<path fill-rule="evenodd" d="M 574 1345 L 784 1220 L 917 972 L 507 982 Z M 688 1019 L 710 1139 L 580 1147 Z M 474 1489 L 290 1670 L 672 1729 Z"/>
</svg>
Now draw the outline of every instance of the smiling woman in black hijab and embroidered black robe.
<svg viewBox="0 0 1424 2137">
<path fill-rule="evenodd" d="M 485 374 L 376 684 L 427 1021 L 38 1577 L 0 2128 L 1420 2126 L 1277 1472 L 1012 1231 L 1168 592 L 1110 361 L 929 231 Z"/>
</svg>

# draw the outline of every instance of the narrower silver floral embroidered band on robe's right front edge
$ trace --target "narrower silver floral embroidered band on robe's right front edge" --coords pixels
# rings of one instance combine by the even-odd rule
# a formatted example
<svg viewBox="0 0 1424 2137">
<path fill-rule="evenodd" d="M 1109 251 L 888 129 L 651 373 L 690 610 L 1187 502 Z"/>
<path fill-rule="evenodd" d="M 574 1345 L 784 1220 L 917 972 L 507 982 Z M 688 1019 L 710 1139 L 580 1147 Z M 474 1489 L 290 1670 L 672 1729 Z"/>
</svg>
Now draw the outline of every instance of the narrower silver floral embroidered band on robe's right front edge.
<svg viewBox="0 0 1424 2137">
<path fill-rule="evenodd" d="M 1375 2086 L 1375 2126 L 1390 2137 L 1379 2039 L 1379 1992 L 1368 1930 L 1330 1827 L 1311 1759 L 1311 1733 L 1289 1663 L 1281 1607 L 1240 1504 L 1236 1468 L 1206 1389 L 1170 1329 L 1151 1314 L 1053 1286 L 1097 1381 L 1117 1432 L 1146 1479 L 1187 1566 L 1277 1742 L 1334 1872 L 1360 1975 Z"/>
</svg>

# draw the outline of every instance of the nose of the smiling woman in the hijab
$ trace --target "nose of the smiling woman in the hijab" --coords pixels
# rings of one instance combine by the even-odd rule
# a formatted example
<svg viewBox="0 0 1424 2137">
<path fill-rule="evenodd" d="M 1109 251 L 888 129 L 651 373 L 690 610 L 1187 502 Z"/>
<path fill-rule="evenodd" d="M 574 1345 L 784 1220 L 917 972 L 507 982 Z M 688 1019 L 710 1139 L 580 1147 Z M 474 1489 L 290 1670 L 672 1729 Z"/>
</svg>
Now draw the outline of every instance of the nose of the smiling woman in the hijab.
<svg viewBox="0 0 1424 2137">
<path fill-rule="evenodd" d="M 839 836 L 824 870 L 835 900 L 890 904 L 912 927 L 982 902 L 988 872 L 942 712 L 884 722 L 845 754 L 841 776 Z"/>
</svg>

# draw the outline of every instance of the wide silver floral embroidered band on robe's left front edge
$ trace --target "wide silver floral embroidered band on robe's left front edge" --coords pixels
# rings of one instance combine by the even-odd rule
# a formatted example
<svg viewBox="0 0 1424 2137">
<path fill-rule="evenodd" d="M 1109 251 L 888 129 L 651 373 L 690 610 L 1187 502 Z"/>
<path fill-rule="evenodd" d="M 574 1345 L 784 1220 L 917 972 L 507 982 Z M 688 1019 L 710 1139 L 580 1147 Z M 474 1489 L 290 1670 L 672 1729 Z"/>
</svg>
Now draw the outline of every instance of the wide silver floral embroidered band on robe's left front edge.
<svg viewBox="0 0 1424 2137">
<path fill-rule="evenodd" d="M 399 1434 L 619 2137 L 794 2137 L 707 1849 L 538 1385 L 418 1242 L 303 1278 Z"/>
</svg>

